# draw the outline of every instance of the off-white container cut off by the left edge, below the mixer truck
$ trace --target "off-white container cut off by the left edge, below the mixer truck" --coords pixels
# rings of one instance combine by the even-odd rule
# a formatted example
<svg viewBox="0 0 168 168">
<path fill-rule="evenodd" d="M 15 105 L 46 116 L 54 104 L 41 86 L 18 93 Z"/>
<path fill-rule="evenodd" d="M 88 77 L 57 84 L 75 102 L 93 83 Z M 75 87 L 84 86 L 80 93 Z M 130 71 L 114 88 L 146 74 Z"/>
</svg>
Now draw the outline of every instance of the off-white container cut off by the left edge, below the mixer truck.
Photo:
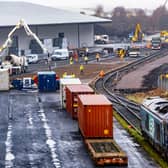
<svg viewBox="0 0 168 168">
<path fill-rule="evenodd" d="M 0 69 L 0 91 L 7 91 L 9 89 L 9 72 L 7 69 Z"/>
</svg>

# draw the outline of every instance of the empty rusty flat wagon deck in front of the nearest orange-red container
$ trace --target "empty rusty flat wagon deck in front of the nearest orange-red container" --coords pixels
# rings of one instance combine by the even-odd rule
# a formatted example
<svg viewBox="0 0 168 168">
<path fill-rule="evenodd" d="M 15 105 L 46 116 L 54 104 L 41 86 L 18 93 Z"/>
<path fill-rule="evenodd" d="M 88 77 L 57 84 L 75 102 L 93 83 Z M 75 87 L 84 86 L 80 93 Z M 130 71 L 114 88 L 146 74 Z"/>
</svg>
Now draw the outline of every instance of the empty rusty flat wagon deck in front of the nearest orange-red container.
<svg viewBox="0 0 168 168">
<path fill-rule="evenodd" d="M 126 153 L 112 139 L 86 139 L 85 144 L 98 166 L 128 164 Z"/>
</svg>

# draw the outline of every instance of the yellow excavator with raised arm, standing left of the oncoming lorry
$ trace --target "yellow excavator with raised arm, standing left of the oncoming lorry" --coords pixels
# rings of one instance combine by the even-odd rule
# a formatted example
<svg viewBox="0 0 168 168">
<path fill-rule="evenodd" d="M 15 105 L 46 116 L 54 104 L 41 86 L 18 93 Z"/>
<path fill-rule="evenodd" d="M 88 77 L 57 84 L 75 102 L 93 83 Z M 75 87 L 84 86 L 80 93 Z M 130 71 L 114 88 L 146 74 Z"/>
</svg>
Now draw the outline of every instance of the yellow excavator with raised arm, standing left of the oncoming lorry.
<svg viewBox="0 0 168 168">
<path fill-rule="evenodd" d="M 136 24 L 135 32 L 133 37 L 131 38 L 131 41 L 132 42 L 142 41 L 143 37 L 144 37 L 144 34 L 142 33 L 141 25 L 138 23 Z"/>
</svg>

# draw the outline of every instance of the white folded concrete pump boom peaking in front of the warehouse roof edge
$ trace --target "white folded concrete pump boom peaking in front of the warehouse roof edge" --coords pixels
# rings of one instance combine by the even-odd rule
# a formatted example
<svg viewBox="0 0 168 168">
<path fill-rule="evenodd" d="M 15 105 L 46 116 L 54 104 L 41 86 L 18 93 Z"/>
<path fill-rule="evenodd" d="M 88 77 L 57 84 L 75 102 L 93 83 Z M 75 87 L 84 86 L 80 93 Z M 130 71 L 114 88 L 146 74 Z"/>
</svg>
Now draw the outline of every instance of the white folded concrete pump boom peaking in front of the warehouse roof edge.
<svg viewBox="0 0 168 168">
<path fill-rule="evenodd" d="M 29 26 L 27 25 L 27 23 L 23 19 L 21 19 L 16 24 L 16 26 L 9 32 L 8 38 L 6 39 L 6 41 L 4 42 L 4 44 L 0 47 L 0 52 L 2 52 L 4 49 L 6 49 L 6 48 L 8 48 L 8 47 L 11 46 L 11 44 L 12 44 L 12 39 L 11 39 L 12 35 L 15 33 L 15 31 L 17 29 L 20 29 L 21 27 L 23 27 L 25 29 L 25 32 L 26 32 L 26 34 L 28 36 L 33 37 L 37 41 L 37 43 L 40 45 L 40 47 L 42 48 L 42 50 L 43 50 L 44 53 L 48 52 L 47 49 L 45 48 L 45 46 L 43 45 L 43 43 L 40 41 L 40 39 L 36 36 L 35 33 L 33 33 L 30 30 Z"/>
</svg>

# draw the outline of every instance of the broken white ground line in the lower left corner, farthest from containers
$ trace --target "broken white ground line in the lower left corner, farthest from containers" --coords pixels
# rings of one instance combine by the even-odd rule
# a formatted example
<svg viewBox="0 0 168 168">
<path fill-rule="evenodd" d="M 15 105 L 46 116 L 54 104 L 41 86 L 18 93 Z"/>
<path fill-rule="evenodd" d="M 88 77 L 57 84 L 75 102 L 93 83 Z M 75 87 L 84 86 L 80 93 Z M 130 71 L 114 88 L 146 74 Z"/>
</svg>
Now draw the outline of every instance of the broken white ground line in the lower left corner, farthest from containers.
<svg viewBox="0 0 168 168">
<path fill-rule="evenodd" d="M 13 160 L 15 159 L 14 154 L 12 153 L 12 124 L 9 122 L 8 132 L 6 138 L 6 155 L 5 155 L 5 168 L 13 167 Z"/>
</svg>

